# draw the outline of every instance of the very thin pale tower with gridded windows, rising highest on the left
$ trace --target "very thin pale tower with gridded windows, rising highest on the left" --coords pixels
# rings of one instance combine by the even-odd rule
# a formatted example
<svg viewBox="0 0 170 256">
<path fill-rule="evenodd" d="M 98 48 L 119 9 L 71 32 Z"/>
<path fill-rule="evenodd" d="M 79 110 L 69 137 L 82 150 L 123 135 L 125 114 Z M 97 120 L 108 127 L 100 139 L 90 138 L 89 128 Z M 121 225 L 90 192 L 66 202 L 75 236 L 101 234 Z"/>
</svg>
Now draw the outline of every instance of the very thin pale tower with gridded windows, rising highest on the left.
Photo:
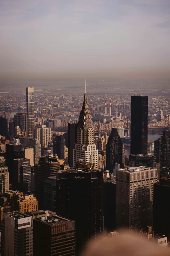
<svg viewBox="0 0 170 256">
<path fill-rule="evenodd" d="M 27 137 L 33 137 L 34 128 L 34 87 L 26 88 L 26 107 L 27 107 Z"/>
</svg>

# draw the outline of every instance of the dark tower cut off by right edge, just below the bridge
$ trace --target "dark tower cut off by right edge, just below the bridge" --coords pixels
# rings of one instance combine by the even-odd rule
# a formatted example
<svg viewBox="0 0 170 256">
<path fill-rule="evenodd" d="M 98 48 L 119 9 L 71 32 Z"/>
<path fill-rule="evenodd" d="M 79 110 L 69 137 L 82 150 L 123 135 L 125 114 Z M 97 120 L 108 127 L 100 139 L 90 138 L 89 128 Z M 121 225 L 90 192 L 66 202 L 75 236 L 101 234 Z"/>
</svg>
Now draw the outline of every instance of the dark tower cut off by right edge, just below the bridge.
<svg viewBox="0 0 170 256">
<path fill-rule="evenodd" d="M 163 167 L 170 167 L 170 131 L 163 131 L 160 152 L 161 171 Z"/>
</svg>

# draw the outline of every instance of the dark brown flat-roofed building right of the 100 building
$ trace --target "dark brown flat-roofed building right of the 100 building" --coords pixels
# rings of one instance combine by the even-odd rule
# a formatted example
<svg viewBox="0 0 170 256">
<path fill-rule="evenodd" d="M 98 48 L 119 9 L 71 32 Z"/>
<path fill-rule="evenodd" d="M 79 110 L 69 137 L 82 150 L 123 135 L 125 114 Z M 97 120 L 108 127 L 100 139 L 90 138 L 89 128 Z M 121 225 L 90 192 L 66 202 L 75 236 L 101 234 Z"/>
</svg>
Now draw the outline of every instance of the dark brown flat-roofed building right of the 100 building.
<svg viewBox="0 0 170 256">
<path fill-rule="evenodd" d="M 74 256 L 74 221 L 58 215 L 33 219 L 34 256 Z"/>
</svg>

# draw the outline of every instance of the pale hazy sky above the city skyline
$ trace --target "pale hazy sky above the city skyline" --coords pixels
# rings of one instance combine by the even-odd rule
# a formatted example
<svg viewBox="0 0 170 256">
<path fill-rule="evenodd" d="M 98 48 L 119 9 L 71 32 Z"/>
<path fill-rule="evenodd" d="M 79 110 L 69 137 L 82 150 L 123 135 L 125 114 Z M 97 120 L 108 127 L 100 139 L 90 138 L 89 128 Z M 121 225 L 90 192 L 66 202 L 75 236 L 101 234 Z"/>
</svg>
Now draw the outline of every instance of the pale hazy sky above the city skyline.
<svg viewBox="0 0 170 256">
<path fill-rule="evenodd" d="M 170 0 L 0 0 L 0 73 L 169 69 Z"/>
</svg>

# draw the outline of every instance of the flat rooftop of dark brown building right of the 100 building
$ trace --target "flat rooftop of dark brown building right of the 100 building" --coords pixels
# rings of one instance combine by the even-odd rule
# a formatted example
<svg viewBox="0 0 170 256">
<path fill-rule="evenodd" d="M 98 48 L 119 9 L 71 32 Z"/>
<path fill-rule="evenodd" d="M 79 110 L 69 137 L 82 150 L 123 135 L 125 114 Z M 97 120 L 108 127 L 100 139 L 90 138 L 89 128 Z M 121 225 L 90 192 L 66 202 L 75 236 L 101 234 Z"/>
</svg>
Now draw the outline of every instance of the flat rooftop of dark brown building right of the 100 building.
<svg viewBox="0 0 170 256">
<path fill-rule="evenodd" d="M 36 219 L 36 221 L 41 221 L 46 223 L 47 225 L 53 226 L 59 223 L 70 222 L 70 221 L 73 222 L 74 220 L 66 219 L 64 217 L 54 214 L 51 216 L 43 216 L 43 217 L 40 216 L 40 218 Z"/>
</svg>

